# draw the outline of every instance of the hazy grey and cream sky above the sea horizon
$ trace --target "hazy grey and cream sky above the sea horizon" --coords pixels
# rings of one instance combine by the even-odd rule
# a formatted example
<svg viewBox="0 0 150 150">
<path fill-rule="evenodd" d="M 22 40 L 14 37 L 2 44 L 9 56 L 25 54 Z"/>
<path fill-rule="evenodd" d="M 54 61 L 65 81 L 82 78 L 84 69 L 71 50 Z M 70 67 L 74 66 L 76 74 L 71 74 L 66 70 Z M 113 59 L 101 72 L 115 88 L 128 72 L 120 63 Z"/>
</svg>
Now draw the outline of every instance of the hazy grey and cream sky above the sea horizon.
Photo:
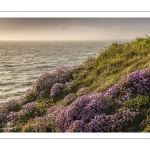
<svg viewBox="0 0 150 150">
<path fill-rule="evenodd" d="M 0 18 L 0 40 L 105 40 L 150 36 L 150 18 Z"/>
</svg>

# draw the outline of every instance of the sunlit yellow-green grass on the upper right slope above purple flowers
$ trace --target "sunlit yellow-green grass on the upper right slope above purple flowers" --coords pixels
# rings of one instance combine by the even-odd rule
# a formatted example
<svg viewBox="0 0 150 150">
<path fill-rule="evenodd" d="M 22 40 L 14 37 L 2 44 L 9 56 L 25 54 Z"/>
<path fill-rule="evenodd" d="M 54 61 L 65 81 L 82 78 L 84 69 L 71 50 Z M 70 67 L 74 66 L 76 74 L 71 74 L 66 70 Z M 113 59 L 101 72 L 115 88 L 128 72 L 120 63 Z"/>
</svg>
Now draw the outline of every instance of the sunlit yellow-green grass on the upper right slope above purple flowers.
<svg viewBox="0 0 150 150">
<path fill-rule="evenodd" d="M 89 91 L 102 92 L 119 82 L 129 73 L 150 68 L 150 38 L 137 38 L 127 43 L 112 43 L 93 64 L 80 70 L 79 80 L 74 79 L 74 89 L 87 86 Z M 84 72 L 86 71 L 86 75 Z"/>
</svg>

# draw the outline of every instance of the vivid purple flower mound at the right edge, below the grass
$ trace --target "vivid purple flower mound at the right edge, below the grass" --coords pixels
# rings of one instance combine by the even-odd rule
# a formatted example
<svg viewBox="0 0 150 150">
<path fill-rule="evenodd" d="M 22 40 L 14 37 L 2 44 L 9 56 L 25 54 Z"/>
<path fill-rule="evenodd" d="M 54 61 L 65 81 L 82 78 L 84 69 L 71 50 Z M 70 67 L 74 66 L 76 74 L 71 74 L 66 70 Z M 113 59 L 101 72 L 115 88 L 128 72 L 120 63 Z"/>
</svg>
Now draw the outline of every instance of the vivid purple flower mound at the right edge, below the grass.
<svg viewBox="0 0 150 150">
<path fill-rule="evenodd" d="M 104 97 L 121 101 L 136 97 L 138 94 L 150 94 L 150 69 L 138 70 L 130 73 L 118 84 L 104 92 Z"/>
</svg>

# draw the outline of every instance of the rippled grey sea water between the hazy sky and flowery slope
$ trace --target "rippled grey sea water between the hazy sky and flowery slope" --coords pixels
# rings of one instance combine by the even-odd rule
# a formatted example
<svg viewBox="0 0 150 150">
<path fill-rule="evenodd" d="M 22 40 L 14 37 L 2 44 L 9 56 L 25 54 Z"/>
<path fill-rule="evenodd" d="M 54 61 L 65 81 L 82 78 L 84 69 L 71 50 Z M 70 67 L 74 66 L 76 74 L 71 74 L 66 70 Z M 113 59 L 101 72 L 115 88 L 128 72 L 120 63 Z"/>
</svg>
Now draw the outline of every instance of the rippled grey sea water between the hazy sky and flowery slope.
<svg viewBox="0 0 150 150">
<path fill-rule="evenodd" d="M 81 64 L 112 41 L 0 42 L 0 103 L 21 96 L 45 72 Z"/>
</svg>

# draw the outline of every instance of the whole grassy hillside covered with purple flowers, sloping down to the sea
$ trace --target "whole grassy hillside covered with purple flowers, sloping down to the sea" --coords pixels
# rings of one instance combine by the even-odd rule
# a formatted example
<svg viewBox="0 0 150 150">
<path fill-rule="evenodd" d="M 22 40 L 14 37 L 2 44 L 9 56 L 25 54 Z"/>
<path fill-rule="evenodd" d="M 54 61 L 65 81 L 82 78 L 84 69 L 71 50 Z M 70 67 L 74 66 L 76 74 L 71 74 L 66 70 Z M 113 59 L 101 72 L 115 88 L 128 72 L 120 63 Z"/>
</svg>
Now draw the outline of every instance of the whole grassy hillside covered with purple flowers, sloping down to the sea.
<svg viewBox="0 0 150 150">
<path fill-rule="evenodd" d="M 3 132 L 150 131 L 150 37 L 40 76 L 0 106 Z"/>
</svg>

